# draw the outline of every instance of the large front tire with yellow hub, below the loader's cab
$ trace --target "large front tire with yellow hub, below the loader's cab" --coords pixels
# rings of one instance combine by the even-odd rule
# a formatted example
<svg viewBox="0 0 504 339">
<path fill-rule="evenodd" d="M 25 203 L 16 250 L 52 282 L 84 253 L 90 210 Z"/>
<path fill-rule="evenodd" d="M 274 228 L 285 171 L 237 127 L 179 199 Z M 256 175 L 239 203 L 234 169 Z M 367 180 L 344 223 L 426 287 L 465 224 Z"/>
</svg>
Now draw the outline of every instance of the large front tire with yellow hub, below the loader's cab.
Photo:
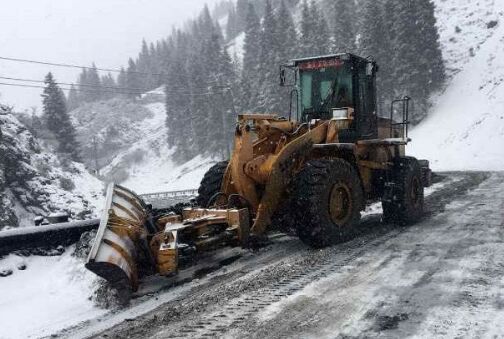
<svg viewBox="0 0 504 339">
<path fill-rule="evenodd" d="M 364 205 L 355 168 L 343 159 L 311 160 L 296 176 L 294 185 L 296 228 L 301 241 L 321 248 L 345 240 L 359 222 Z"/>
</svg>

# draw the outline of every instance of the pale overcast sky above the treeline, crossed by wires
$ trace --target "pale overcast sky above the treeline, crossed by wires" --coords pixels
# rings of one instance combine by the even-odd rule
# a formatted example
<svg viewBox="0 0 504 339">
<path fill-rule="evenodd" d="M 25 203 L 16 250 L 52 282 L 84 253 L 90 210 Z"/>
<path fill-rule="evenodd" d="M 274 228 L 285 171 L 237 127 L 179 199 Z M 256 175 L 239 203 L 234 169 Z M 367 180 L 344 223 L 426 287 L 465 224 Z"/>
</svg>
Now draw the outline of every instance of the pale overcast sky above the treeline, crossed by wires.
<svg viewBox="0 0 504 339">
<path fill-rule="evenodd" d="M 142 38 L 166 37 L 218 0 L 9 0 L 0 11 L 0 57 L 120 68 Z M 78 69 L 0 60 L 0 77 L 75 82 Z M 14 81 L 0 79 L 0 82 Z M 20 83 L 20 82 L 15 82 Z M 36 85 L 36 84 L 35 84 Z M 17 110 L 41 104 L 41 89 L 0 85 L 0 102 Z"/>
</svg>

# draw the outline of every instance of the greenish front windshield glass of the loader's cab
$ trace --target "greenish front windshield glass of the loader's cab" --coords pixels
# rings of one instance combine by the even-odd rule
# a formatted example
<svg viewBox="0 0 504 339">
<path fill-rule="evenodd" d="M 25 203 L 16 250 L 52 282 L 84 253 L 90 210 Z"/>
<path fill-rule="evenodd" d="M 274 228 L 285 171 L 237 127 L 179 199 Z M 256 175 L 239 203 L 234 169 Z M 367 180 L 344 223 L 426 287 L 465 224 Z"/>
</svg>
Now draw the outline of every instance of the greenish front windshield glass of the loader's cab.
<svg viewBox="0 0 504 339">
<path fill-rule="evenodd" d="M 334 108 L 353 107 L 350 64 L 318 69 L 301 69 L 301 109 L 303 116 L 330 116 Z"/>
</svg>

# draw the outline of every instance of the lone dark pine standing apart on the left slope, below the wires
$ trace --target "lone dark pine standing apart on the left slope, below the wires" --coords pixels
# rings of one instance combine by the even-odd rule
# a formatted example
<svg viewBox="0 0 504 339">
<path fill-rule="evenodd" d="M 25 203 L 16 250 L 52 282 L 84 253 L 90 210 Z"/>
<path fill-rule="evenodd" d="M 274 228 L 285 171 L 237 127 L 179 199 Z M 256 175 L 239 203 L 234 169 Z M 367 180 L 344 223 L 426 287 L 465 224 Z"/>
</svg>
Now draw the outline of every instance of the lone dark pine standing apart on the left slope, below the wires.
<svg viewBox="0 0 504 339">
<path fill-rule="evenodd" d="M 79 145 L 75 137 L 75 128 L 67 113 L 65 96 L 51 73 L 47 74 L 44 83 L 42 104 L 46 128 L 55 135 L 59 153 L 68 155 L 72 160 L 80 161 Z"/>
</svg>

